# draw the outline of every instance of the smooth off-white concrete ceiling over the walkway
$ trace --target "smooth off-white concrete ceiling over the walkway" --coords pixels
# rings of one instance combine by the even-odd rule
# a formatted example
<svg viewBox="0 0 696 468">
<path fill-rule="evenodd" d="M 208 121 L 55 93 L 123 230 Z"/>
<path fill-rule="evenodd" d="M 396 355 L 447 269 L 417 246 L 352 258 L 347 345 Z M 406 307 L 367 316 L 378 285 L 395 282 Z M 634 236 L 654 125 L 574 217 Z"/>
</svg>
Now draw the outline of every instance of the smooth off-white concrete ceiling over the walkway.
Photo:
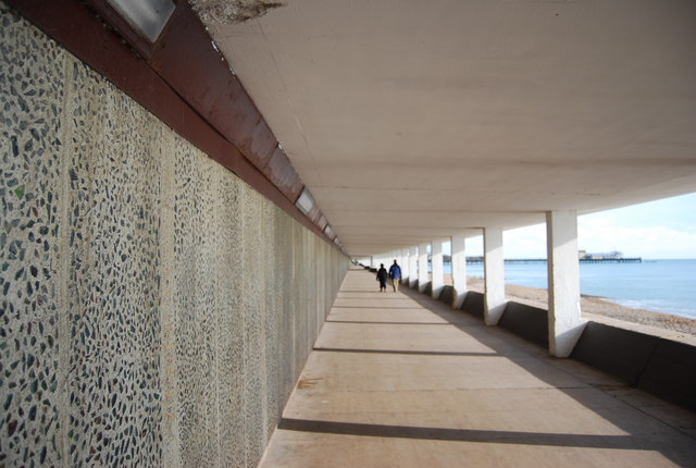
<svg viewBox="0 0 696 468">
<path fill-rule="evenodd" d="M 204 22 L 350 254 L 696 192 L 695 1 L 287 0 Z"/>
</svg>

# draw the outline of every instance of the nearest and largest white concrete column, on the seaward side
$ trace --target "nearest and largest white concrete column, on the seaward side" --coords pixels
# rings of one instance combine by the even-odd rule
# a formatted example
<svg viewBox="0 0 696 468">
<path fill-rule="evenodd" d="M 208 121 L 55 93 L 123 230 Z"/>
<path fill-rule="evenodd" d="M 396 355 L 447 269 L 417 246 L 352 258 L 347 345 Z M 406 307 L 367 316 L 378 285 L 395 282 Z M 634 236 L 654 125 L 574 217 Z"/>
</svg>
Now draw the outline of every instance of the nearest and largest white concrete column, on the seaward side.
<svg viewBox="0 0 696 468">
<path fill-rule="evenodd" d="M 568 357 L 585 328 L 580 318 L 577 213 L 546 213 L 548 258 L 548 344 L 556 357 Z"/>
</svg>

